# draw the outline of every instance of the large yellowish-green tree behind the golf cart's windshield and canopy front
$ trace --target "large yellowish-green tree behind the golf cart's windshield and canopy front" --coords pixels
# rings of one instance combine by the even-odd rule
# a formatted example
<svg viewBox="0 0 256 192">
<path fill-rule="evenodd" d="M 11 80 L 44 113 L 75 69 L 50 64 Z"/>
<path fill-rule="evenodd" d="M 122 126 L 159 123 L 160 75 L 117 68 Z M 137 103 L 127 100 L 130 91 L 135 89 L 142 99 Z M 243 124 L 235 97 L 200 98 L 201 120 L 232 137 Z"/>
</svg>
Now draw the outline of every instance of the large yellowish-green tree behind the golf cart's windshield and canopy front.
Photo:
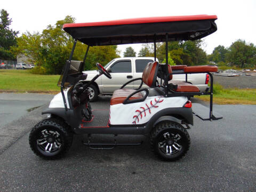
<svg viewBox="0 0 256 192">
<path fill-rule="evenodd" d="M 12 53 L 24 54 L 36 64 L 34 73 L 60 74 L 69 58 L 74 39 L 62 27 L 65 23 L 73 23 L 75 18 L 67 16 L 64 20 L 57 21 L 54 26 L 49 25 L 42 34 L 29 32 L 22 34 L 17 39 L 18 46 L 12 47 Z M 77 42 L 73 60 L 82 61 L 87 46 Z M 105 65 L 110 60 L 119 57 L 117 46 L 93 46 L 85 61 L 85 69 L 95 69 L 95 63 Z"/>
</svg>

